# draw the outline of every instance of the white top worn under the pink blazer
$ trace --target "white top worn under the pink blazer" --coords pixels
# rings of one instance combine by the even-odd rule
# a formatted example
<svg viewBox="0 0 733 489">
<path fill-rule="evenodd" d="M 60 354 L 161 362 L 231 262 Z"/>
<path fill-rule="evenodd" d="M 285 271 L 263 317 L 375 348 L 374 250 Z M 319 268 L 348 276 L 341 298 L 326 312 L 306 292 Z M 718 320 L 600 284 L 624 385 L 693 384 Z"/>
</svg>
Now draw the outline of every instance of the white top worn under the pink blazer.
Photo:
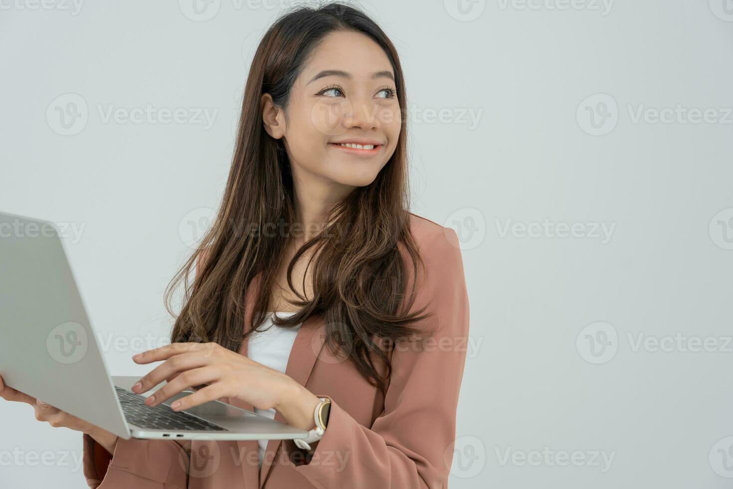
<svg viewBox="0 0 733 489">
<path fill-rule="evenodd" d="M 294 315 L 295 312 L 277 312 L 278 317 L 288 317 Z M 247 342 L 247 356 L 249 359 L 267 365 L 271 369 L 279 370 L 285 373 L 287 367 L 287 359 L 290 358 L 290 350 L 292 343 L 295 341 L 295 335 L 301 325 L 295 328 L 281 328 L 272 323 L 271 317 L 273 312 L 268 312 L 265 320 L 258 329 L 267 328 L 266 331 L 254 331 Z M 254 408 L 254 406 L 253 406 Z M 257 409 L 254 412 L 267 416 L 270 419 L 275 418 L 274 409 Z M 257 440 L 257 452 L 259 455 L 259 465 L 262 465 L 262 457 L 265 455 L 269 440 Z"/>
</svg>

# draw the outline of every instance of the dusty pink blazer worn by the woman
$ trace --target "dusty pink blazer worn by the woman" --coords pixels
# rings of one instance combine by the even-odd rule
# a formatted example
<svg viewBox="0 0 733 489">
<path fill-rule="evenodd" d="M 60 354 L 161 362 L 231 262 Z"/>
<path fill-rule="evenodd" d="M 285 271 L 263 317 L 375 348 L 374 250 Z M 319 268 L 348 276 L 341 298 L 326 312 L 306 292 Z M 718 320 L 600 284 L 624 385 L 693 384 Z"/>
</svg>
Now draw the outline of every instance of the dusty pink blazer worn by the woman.
<svg viewBox="0 0 733 489">
<path fill-rule="evenodd" d="M 304 452 L 292 441 L 270 440 L 260 469 L 257 441 L 185 444 L 122 438 L 110 460 L 105 449 L 84 435 L 89 487 L 446 488 L 468 339 L 468 295 L 456 233 L 414 214 L 410 226 L 426 270 L 425 276 L 418 276 L 410 310 L 427 304 L 435 315 L 424 320 L 424 326 L 437 327 L 438 332 L 432 342 L 393 350 L 393 372 L 383 396 L 354 367 L 323 348 L 320 316 L 303 323 L 286 373 L 333 401 L 328 428 L 309 462 L 304 463 Z M 254 293 L 258 277 L 248 295 Z M 247 304 L 251 307 L 251 301 Z M 251 315 L 251 309 L 246 314 Z M 240 353 L 247 354 L 246 341 Z M 244 402 L 231 403 L 252 409 Z M 275 419 L 283 420 L 279 413 Z"/>
</svg>

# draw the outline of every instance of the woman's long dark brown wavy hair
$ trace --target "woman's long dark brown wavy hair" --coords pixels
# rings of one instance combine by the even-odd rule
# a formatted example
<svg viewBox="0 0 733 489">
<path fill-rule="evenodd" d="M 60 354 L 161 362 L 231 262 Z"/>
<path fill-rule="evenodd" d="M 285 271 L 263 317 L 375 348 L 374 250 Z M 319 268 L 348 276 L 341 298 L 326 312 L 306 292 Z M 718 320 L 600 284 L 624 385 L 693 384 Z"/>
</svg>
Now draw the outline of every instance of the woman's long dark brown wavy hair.
<svg viewBox="0 0 733 489">
<path fill-rule="evenodd" d="M 166 288 L 166 309 L 174 317 L 174 290 L 181 284 L 184 290 L 172 342 L 216 342 L 239 351 L 243 339 L 269 311 L 274 271 L 279 270 L 292 237 L 267 230 L 292 229 L 295 209 L 290 163 L 282 141 L 265 132 L 260 98 L 269 93 L 276 106 L 287 109 L 290 90 L 309 54 L 334 31 L 361 32 L 381 46 L 394 70 L 399 108 L 405 114 L 405 81 L 397 50 L 364 12 L 331 3 L 300 7 L 273 23 L 251 64 L 232 166 L 216 219 Z M 277 318 L 275 326 L 290 328 L 311 315 L 323 315 L 325 345 L 334 353 L 340 351 L 383 393 L 391 374 L 389 350 L 395 342 L 420 337 L 418 328 L 410 325 L 428 316 L 421 315 L 425 308 L 412 314 L 406 313 L 409 305 L 400 308 L 405 298 L 412 298 L 407 301 L 412 304 L 418 266 L 424 267 L 410 232 L 405 120 L 402 117 L 394 154 L 375 180 L 335 205 L 320 232 L 296 251 L 287 267 L 287 282 L 300 299 L 290 304 L 299 310 Z M 314 267 L 314 293 L 307 299 L 295 291 L 291 273 L 311 248 L 314 253 L 307 267 Z M 196 263 L 199 273 L 191 282 Z M 245 328 L 244 293 L 260 272 L 254 313 Z M 406 293 L 408 282 L 413 285 L 410 294 Z M 375 361 L 383 362 L 386 375 L 379 374 Z"/>
</svg>

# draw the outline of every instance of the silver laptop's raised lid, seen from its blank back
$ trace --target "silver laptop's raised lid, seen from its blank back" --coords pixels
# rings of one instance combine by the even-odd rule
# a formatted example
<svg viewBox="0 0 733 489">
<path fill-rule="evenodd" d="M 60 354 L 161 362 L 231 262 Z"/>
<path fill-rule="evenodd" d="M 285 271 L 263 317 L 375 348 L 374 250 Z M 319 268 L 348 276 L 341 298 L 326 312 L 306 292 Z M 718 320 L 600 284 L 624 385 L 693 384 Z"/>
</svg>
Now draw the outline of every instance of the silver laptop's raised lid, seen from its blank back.
<svg viewBox="0 0 733 489">
<path fill-rule="evenodd" d="M 0 375 L 8 386 L 130 438 L 53 223 L 0 213 Z"/>
</svg>

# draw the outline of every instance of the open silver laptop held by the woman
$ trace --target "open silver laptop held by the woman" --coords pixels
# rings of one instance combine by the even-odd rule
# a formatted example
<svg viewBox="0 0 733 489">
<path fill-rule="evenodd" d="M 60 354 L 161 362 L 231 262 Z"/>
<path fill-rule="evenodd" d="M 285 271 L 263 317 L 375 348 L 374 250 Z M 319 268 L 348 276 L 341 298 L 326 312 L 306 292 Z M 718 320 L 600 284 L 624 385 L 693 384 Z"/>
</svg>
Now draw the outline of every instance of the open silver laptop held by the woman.
<svg viewBox="0 0 733 489">
<path fill-rule="evenodd" d="M 108 374 L 54 224 L 4 213 L 0 375 L 8 386 L 125 439 L 308 437 L 305 430 L 224 402 L 172 411 L 169 405 L 192 391 L 154 408 L 144 405 L 145 397 L 130 391 L 139 377 Z"/>
</svg>

